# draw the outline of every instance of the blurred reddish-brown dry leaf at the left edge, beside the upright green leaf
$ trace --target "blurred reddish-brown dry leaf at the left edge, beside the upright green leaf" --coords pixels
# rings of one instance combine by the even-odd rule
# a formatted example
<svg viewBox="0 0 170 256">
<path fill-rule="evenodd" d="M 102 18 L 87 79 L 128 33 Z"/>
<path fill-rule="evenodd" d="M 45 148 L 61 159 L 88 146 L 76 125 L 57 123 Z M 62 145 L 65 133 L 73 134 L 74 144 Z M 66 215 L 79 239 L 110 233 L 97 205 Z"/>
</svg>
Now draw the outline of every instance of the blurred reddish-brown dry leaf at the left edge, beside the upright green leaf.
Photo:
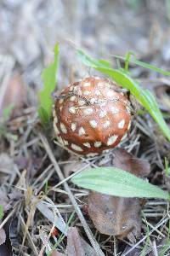
<svg viewBox="0 0 170 256">
<path fill-rule="evenodd" d="M 5 90 L 2 105 L 0 106 L 0 115 L 4 108 L 9 105 L 14 106 L 14 113 L 23 107 L 26 103 L 26 88 L 25 84 L 19 73 L 14 73 L 13 77 L 9 80 Z"/>
</svg>

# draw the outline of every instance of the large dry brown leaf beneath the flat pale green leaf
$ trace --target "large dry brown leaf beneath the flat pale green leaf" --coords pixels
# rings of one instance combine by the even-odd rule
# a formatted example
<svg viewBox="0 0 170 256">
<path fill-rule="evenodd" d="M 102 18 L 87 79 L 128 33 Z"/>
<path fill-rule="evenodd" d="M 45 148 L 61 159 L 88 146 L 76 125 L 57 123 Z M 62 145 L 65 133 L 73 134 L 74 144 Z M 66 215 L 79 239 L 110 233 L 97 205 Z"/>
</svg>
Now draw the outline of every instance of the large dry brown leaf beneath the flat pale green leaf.
<svg viewBox="0 0 170 256">
<path fill-rule="evenodd" d="M 134 158 L 122 148 L 114 150 L 114 158 L 105 166 L 115 166 L 139 177 L 150 173 L 150 165 L 145 160 Z M 126 237 L 135 242 L 140 235 L 140 210 L 144 200 L 139 198 L 123 198 L 90 192 L 88 196 L 88 214 L 100 233 L 114 235 L 122 239 Z"/>
</svg>

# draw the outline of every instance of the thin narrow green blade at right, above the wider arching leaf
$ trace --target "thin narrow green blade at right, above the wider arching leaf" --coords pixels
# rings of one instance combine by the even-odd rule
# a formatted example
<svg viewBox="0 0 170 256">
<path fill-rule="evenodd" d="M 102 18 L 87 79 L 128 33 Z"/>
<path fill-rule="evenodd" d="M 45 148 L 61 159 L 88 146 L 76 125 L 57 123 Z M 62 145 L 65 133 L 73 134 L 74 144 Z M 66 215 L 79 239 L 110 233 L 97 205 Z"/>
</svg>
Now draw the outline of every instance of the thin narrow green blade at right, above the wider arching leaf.
<svg viewBox="0 0 170 256">
<path fill-rule="evenodd" d="M 127 54 L 128 54 L 128 56 L 129 56 L 129 54 L 130 55 L 134 55 L 134 54 L 132 54 L 132 52 L 128 52 Z M 123 60 L 125 62 L 127 61 L 127 56 L 126 57 L 123 57 L 123 56 L 120 56 L 120 55 L 111 55 L 111 56 L 113 56 L 113 57 L 115 57 L 117 59 Z M 163 70 L 163 69 L 161 69 L 159 67 L 156 67 L 154 65 L 150 65 L 149 63 L 145 63 L 143 61 L 138 61 L 138 60 L 132 59 L 132 58 L 128 58 L 128 62 L 136 64 L 136 65 L 138 65 L 140 67 L 144 67 L 144 68 L 156 71 L 157 73 L 161 73 L 161 74 L 163 74 L 165 76 L 170 76 L 170 72 L 168 72 L 166 70 Z"/>
</svg>

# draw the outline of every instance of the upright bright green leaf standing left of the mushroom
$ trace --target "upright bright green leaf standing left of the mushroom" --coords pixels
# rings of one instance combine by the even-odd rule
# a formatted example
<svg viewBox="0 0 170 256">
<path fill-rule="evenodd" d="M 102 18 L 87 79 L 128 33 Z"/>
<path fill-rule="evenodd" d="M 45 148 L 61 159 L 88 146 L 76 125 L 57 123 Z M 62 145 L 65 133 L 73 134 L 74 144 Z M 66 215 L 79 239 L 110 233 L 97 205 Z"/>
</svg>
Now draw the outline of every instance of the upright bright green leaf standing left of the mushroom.
<svg viewBox="0 0 170 256">
<path fill-rule="evenodd" d="M 52 92 L 57 81 L 57 70 L 59 66 L 59 44 L 54 46 L 54 62 L 42 71 L 43 89 L 39 93 L 39 117 L 43 125 L 47 125 L 52 116 Z"/>
</svg>

